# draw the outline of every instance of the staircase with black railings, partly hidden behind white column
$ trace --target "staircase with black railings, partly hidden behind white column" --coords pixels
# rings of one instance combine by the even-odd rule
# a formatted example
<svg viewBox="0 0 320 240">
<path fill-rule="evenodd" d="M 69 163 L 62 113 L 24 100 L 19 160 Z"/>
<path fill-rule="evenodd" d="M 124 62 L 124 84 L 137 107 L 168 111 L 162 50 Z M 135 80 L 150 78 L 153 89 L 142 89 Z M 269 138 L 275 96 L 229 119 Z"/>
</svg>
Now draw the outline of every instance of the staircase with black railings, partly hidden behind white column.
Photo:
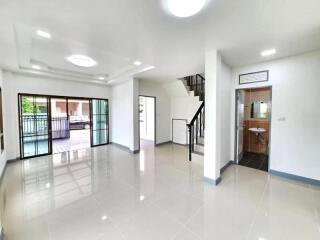
<svg viewBox="0 0 320 240">
<path fill-rule="evenodd" d="M 200 74 L 183 78 L 183 83 L 188 91 L 193 91 L 194 96 L 198 96 L 202 102 L 198 111 L 187 124 L 189 131 L 189 161 L 192 160 L 192 154 L 203 155 L 204 153 L 204 128 L 205 128 L 205 78 Z"/>
</svg>

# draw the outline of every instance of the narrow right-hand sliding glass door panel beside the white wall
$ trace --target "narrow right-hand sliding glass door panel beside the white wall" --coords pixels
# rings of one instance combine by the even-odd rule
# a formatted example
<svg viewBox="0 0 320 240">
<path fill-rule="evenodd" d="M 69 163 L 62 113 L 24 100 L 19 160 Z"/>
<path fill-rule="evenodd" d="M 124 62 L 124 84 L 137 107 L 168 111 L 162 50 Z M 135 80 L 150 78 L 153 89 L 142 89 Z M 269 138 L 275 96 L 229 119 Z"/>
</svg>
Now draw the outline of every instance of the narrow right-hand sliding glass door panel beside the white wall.
<svg viewBox="0 0 320 240">
<path fill-rule="evenodd" d="M 108 100 L 90 100 L 91 145 L 100 146 L 109 143 Z"/>
</svg>

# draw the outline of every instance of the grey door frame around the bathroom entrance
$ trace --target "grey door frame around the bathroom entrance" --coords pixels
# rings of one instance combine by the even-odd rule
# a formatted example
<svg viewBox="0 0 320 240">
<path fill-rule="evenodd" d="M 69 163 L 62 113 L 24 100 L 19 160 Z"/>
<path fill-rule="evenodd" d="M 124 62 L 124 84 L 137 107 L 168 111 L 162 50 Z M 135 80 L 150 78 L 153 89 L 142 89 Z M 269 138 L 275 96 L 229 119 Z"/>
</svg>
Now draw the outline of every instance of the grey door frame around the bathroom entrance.
<svg viewBox="0 0 320 240">
<path fill-rule="evenodd" d="M 234 163 L 239 165 L 239 159 L 238 159 L 238 152 L 237 152 L 237 146 L 238 146 L 238 92 L 241 90 L 248 90 L 248 89 L 260 89 L 260 88 L 269 88 L 270 89 L 270 117 L 269 117 L 269 146 L 268 146 L 268 172 L 270 172 L 270 162 L 271 162 L 271 122 L 272 122 L 272 85 L 267 85 L 267 86 L 254 86 L 254 87 L 238 87 L 235 89 L 235 118 L 234 118 Z"/>
</svg>

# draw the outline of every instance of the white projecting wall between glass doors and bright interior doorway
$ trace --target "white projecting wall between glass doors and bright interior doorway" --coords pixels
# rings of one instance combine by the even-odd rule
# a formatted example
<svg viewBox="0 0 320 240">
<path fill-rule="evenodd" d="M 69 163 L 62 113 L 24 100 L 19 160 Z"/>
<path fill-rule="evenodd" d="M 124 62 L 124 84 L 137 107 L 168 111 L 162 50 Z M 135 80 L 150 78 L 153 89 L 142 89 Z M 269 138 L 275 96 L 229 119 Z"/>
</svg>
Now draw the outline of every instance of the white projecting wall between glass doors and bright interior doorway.
<svg viewBox="0 0 320 240">
<path fill-rule="evenodd" d="M 138 83 L 128 78 L 111 88 L 111 141 L 131 151 L 139 149 Z"/>
</svg>

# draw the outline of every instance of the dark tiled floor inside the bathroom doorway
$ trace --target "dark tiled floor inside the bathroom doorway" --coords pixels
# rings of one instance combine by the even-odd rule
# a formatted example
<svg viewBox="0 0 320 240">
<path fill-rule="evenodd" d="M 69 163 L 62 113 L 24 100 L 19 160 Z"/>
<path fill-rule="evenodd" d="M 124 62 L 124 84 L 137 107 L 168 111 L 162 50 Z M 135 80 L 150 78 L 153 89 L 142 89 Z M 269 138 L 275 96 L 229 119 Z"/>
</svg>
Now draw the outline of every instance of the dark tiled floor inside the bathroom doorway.
<svg viewBox="0 0 320 240">
<path fill-rule="evenodd" d="M 245 152 L 239 162 L 239 165 L 267 172 L 268 158 L 268 155 L 265 154 Z"/>
</svg>

